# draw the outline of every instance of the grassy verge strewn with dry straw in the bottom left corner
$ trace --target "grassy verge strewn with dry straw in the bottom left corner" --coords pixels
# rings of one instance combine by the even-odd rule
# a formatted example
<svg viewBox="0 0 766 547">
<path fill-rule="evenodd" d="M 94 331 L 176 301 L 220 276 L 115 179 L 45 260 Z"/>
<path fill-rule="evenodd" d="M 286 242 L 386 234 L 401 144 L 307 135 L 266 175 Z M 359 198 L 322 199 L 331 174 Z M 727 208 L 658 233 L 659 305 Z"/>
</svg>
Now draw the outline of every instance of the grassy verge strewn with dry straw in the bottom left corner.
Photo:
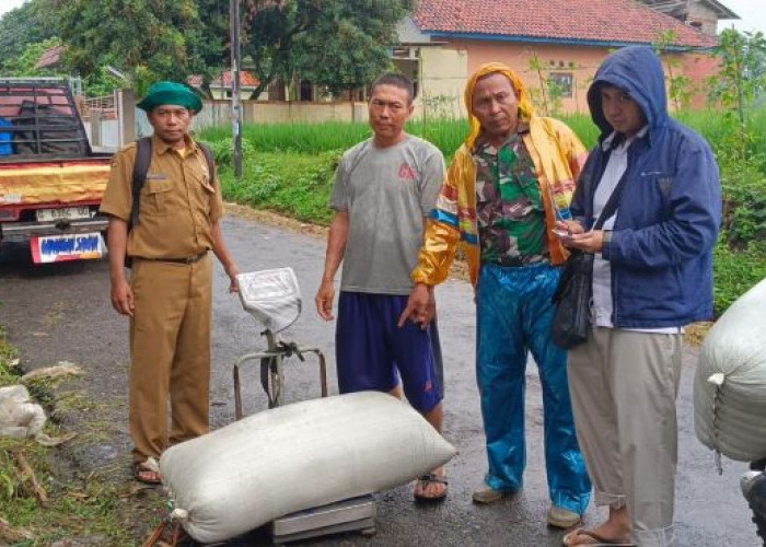
<svg viewBox="0 0 766 547">
<path fill-rule="evenodd" d="M 19 383 L 16 363 L 16 350 L 0 330 L 0 387 Z M 51 404 L 51 383 L 35 381 L 27 387 L 47 393 L 43 404 Z M 79 391 L 68 392 L 63 400 L 67 411 L 93 406 Z M 93 442 L 103 427 L 83 421 L 77 429 L 73 441 L 54 447 L 33 439 L 0 438 L 0 545 L 42 547 L 73 540 L 129 547 L 141 545 L 147 531 L 158 524 L 164 503 L 159 493 L 78 468 L 68 451 Z M 66 433 L 53 420 L 45 432 L 54 438 Z"/>
</svg>

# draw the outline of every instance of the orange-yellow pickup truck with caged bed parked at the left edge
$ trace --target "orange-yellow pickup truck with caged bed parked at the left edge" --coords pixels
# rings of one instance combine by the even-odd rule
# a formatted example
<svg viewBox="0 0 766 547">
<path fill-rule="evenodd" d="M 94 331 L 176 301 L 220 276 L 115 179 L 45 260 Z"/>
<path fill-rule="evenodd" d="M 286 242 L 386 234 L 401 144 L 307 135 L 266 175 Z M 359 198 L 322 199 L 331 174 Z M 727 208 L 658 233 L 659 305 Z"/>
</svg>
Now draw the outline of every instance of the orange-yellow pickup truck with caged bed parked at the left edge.
<svg viewBox="0 0 766 547">
<path fill-rule="evenodd" d="M 94 153 L 69 84 L 0 78 L 0 245 L 36 264 L 101 258 L 109 153 Z"/>
</svg>

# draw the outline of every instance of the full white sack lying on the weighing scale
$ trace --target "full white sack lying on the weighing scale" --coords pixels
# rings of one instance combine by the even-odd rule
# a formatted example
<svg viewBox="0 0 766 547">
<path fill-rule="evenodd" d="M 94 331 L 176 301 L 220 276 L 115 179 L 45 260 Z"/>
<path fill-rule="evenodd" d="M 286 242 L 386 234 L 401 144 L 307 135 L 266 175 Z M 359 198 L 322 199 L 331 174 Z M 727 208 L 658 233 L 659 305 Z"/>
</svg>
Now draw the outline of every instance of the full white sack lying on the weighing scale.
<svg viewBox="0 0 766 547">
<path fill-rule="evenodd" d="M 409 405 L 376 392 L 266 410 L 160 459 L 174 516 L 200 543 L 406 484 L 455 455 Z"/>
</svg>

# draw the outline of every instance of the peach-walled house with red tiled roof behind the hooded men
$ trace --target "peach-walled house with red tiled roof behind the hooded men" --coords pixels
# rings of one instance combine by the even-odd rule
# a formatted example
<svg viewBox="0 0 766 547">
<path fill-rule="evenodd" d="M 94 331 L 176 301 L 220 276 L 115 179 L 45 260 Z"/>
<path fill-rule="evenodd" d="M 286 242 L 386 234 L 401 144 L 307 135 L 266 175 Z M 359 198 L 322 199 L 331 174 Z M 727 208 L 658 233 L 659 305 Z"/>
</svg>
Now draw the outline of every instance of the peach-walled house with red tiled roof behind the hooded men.
<svg viewBox="0 0 766 547">
<path fill-rule="evenodd" d="M 419 0 L 393 60 L 417 81 L 427 114 L 464 116 L 465 82 L 489 61 L 519 72 L 543 113 L 587 112 L 588 86 L 610 51 L 664 36 L 666 72 L 688 78 L 692 105 L 701 106 L 718 69 L 718 19 L 739 18 L 716 0 Z"/>
</svg>

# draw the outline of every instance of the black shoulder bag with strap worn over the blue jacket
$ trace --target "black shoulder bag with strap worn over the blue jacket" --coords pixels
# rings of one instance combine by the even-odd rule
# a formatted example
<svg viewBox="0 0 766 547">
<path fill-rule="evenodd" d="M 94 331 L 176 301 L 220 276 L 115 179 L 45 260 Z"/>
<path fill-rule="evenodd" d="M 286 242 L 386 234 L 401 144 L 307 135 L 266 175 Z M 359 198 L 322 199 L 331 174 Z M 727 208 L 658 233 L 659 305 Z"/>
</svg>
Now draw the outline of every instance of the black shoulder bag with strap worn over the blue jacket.
<svg viewBox="0 0 766 547">
<path fill-rule="evenodd" d="M 593 230 L 601 230 L 606 219 L 617 210 L 626 174 L 623 175 L 606 201 Z M 593 254 L 572 249 L 564 265 L 556 292 L 550 299 L 556 311 L 550 324 L 550 338 L 562 349 L 572 349 L 585 340 L 591 329 L 591 299 L 593 298 Z"/>
</svg>

